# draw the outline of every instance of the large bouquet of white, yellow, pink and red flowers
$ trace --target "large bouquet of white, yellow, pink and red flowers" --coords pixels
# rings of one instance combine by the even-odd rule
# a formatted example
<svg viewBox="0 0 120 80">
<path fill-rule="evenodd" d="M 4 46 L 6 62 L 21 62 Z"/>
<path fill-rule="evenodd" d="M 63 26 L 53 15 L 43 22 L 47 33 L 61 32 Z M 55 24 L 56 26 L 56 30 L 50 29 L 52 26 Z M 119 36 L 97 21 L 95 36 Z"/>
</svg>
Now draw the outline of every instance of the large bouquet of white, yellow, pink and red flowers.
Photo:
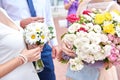
<svg viewBox="0 0 120 80">
<path fill-rule="evenodd" d="M 116 64 L 120 58 L 120 12 L 85 10 L 79 19 L 72 20 L 62 40 L 77 55 L 69 59 L 73 71 L 81 70 L 85 63 L 97 61 Z"/>
</svg>

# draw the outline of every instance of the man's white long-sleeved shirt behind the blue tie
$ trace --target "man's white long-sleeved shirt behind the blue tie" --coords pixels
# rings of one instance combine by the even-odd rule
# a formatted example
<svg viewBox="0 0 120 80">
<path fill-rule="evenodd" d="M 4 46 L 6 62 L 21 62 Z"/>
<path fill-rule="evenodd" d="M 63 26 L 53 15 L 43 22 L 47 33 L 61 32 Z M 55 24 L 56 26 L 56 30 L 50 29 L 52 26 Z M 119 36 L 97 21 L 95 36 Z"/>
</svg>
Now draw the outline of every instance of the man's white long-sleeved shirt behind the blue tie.
<svg viewBox="0 0 120 80">
<path fill-rule="evenodd" d="M 37 16 L 44 17 L 45 23 L 54 27 L 54 35 L 56 35 L 50 0 L 33 0 L 33 5 Z M 4 8 L 13 20 L 21 20 L 31 16 L 26 0 L 0 0 L 0 7 Z M 50 43 L 53 46 L 58 45 L 57 37 L 52 39 Z"/>
</svg>

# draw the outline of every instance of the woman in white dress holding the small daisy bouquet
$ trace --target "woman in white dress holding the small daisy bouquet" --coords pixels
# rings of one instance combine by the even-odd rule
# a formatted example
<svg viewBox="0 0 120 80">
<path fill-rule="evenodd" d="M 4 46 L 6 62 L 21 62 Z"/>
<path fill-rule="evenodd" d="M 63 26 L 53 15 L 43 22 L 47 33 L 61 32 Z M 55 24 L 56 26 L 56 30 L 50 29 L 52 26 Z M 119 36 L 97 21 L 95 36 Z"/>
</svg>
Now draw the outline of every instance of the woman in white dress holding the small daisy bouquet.
<svg viewBox="0 0 120 80">
<path fill-rule="evenodd" d="M 0 8 L 0 80 L 40 80 L 32 62 L 41 50 L 26 49 L 23 29 Z"/>
</svg>

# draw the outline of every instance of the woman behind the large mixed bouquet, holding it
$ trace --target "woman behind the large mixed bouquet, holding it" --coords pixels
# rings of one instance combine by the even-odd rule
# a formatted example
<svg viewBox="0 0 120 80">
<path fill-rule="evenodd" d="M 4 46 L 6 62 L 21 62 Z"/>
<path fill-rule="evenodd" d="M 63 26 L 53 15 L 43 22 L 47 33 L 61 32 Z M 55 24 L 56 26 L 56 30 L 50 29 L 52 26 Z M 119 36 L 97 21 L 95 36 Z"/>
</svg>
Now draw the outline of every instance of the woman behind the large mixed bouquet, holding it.
<svg viewBox="0 0 120 80">
<path fill-rule="evenodd" d="M 103 10 L 119 9 L 119 5 L 116 5 L 117 3 L 111 0 L 83 0 L 83 2 L 79 5 L 77 15 L 82 13 L 82 11 L 86 8 L 94 8 L 93 4 L 95 5 L 95 8 L 100 8 L 101 3 L 106 3 L 106 7 L 101 6 Z M 73 55 L 73 51 L 71 51 L 67 46 L 69 45 L 63 42 L 62 50 L 68 55 Z M 118 80 L 115 66 L 106 70 L 102 62 L 98 62 L 93 65 L 85 65 L 85 67 L 79 72 L 71 71 L 68 67 L 66 76 L 67 80 Z"/>
</svg>

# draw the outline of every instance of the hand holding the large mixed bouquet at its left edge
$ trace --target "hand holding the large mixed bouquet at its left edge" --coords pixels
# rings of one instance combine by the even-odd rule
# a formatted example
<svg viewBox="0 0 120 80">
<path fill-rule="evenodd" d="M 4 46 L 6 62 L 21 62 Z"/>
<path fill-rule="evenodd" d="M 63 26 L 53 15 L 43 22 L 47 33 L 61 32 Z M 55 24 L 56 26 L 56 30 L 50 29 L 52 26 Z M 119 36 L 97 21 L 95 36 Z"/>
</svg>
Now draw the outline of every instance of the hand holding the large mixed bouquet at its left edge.
<svg viewBox="0 0 120 80">
<path fill-rule="evenodd" d="M 68 56 L 75 57 L 75 52 L 72 50 L 72 47 L 67 42 L 62 42 L 61 45 L 62 51 Z"/>
</svg>

